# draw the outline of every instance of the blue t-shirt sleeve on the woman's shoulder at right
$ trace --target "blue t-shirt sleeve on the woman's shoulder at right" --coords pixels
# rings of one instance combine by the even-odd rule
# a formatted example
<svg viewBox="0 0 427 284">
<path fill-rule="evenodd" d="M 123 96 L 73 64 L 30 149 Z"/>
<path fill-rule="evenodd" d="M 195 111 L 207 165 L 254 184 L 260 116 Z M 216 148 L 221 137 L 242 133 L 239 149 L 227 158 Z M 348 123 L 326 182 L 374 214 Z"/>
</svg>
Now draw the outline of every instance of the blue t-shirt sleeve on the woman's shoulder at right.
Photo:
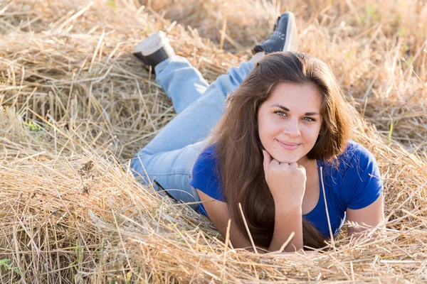
<svg viewBox="0 0 427 284">
<path fill-rule="evenodd" d="M 360 145 L 354 149 L 350 165 L 346 174 L 347 207 L 362 209 L 378 199 L 383 181 L 374 155 Z"/>
</svg>

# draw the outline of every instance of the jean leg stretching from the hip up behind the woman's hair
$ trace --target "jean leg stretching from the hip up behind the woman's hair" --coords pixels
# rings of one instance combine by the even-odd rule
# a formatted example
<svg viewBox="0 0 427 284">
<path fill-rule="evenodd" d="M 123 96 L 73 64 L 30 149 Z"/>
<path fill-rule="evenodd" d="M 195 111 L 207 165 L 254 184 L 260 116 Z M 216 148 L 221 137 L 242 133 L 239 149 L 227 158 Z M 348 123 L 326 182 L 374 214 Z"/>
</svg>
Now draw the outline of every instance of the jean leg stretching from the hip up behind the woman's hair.
<svg viewBox="0 0 427 284">
<path fill-rule="evenodd" d="M 251 70 L 251 62 L 242 62 L 240 67 L 230 68 L 199 99 L 177 114 L 132 159 L 135 177 L 142 183 L 148 183 L 153 178 L 158 180 L 176 200 L 199 200 L 196 190 L 189 185 L 193 165 L 201 149 L 206 146 L 206 136 L 223 114 L 227 94 L 233 92 Z M 161 76 L 162 70 L 159 71 L 157 76 Z M 185 82 L 185 78 L 176 79 L 176 82 Z M 167 87 L 167 82 L 162 85 Z M 184 91 L 185 88 L 180 92 Z"/>
</svg>

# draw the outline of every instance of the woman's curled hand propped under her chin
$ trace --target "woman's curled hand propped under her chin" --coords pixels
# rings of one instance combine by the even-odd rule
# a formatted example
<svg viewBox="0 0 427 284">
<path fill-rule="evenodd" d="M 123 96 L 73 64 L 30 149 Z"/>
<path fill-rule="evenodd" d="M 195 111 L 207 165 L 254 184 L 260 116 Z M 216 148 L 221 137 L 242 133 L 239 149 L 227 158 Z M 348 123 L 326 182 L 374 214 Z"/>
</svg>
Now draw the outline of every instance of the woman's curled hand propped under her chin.
<svg viewBox="0 0 427 284">
<path fill-rule="evenodd" d="M 263 150 L 265 181 L 275 204 L 288 208 L 301 207 L 307 176 L 305 168 L 297 163 L 279 163 Z"/>
</svg>

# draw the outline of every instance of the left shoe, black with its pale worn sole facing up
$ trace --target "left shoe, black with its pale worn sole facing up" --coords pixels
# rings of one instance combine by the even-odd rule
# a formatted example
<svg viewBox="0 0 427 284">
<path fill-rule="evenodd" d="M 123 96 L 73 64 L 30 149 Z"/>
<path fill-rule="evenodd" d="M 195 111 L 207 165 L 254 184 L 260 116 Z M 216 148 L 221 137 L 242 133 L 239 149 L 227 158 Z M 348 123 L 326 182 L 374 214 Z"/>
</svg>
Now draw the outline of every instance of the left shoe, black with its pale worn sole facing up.
<svg viewBox="0 0 427 284">
<path fill-rule="evenodd" d="M 174 49 L 169 45 L 169 40 L 167 40 L 162 31 L 158 31 L 142 40 L 141 43 L 135 46 L 133 54 L 144 64 L 151 66 L 153 72 L 157 64 L 175 55 Z"/>
</svg>

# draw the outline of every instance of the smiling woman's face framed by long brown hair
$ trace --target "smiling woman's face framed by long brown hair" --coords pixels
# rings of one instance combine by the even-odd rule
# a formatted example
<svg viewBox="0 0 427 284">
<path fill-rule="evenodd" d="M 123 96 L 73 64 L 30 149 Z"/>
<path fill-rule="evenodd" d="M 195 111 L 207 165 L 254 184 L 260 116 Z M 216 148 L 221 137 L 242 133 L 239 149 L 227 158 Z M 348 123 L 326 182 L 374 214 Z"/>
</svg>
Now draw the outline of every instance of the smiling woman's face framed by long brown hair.
<svg viewBox="0 0 427 284">
<path fill-rule="evenodd" d="M 314 84 L 279 83 L 258 110 L 258 133 L 265 150 L 280 163 L 305 160 L 322 126 L 321 104 Z"/>
</svg>

